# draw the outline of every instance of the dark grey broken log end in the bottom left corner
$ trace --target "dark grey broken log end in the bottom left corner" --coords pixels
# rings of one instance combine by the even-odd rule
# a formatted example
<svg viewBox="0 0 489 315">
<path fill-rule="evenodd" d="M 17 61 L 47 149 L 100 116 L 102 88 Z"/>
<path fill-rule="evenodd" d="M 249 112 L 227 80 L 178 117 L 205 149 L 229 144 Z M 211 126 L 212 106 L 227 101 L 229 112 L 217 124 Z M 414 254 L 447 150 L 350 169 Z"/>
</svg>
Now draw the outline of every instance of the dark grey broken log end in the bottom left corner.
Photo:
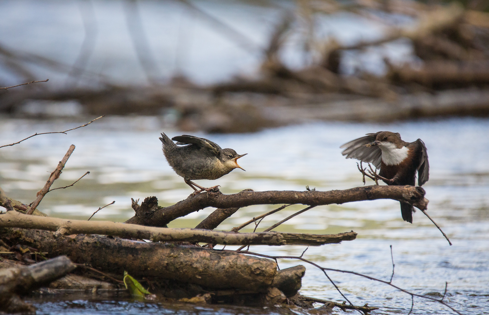
<svg viewBox="0 0 489 315">
<path fill-rule="evenodd" d="M 75 268 L 67 256 L 59 256 L 28 267 L 0 269 L 0 311 L 34 311 L 31 305 L 22 302 L 19 295 L 47 285 Z"/>
</svg>

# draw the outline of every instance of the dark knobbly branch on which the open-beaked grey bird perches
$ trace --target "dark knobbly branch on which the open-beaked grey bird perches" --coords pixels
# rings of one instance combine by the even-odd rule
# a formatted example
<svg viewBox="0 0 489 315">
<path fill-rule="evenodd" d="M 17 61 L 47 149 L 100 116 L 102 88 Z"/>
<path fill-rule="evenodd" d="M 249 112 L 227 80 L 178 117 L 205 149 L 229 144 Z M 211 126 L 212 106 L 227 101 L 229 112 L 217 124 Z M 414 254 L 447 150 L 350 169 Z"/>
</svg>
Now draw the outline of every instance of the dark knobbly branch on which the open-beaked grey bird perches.
<svg viewBox="0 0 489 315">
<path fill-rule="evenodd" d="M 428 200 L 424 198 L 424 194 L 425 191 L 421 187 L 378 185 L 330 191 L 242 191 L 232 195 L 224 195 L 221 192 L 203 192 L 196 196 L 189 196 L 173 206 L 157 207 L 156 210 L 152 211 L 139 212 L 136 210 L 135 215 L 126 223 L 156 227 L 166 226 L 178 217 L 206 207 L 227 209 L 275 204 L 321 206 L 375 199 L 405 201 L 420 210 L 425 210 Z M 152 198 L 156 199 L 156 197 Z M 133 205 L 133 209 L 138 208 Z"/>
</svg>

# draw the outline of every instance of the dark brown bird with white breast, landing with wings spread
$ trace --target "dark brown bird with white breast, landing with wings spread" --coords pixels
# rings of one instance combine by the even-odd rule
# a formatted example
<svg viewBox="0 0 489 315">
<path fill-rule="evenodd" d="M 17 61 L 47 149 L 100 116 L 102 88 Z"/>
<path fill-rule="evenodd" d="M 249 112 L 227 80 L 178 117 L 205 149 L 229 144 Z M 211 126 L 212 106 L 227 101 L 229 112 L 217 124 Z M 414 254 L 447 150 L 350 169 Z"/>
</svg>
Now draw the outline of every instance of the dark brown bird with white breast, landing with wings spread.
<svg viewBox="0 0 489 315">
<path fill-rule="evenodd" d="M 379 131 L 367 133 L 366 136 L 345 143 L 341 154 L 346 158 L 354 158 L 362 162 L 372 163 L 380 168 L 379 176 L 387 185 L 418 185 L 422 186 L 429 178 L 429 164 L 426 147 L 421 139 L 405 142 L 399 133 Z M 400 201 L 402 219 L 413 223 L 414 207 Z"/>
</svg>

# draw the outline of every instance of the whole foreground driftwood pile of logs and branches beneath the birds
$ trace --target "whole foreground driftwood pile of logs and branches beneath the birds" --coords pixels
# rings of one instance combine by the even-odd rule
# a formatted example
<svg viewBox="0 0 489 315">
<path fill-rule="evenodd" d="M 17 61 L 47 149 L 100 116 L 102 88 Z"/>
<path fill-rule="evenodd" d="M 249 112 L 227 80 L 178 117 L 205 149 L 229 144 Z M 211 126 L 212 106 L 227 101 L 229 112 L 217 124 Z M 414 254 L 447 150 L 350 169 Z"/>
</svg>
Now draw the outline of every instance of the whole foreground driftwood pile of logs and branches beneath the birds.
<svg viewBox="0 0 489 315">
<path fill-rule="evenodd" d="M 286 220 L 316 206 L 394 199 L 425 210 L 428 203 L 424 198 L 424 190 L 412 186 L 376 185 L 333 191 L 245 189 L 231 195 L 219 191 L 192 194 L 164 208 L 158 206 L 156 197 L 148 197 L 141 204 L 133 200 L 135 215 L 125 224 L 48 217 L 35 207 L 52 190 L 51 185 L 61 174 L 74 149 L 74 146 L 68 149 L 30 206 L 9 198 L 0 189 L 0 206 L 6 210 L 6 213 L 0 214 L 0 266 L 10 267 L 0 269 L 0 290 L 3 290 L 0 294 L 0 311 L 32 311 L 32 307 L 22 303 L 19 296 L 72 272 L 76 265 L 79 268 L 74 271 L 74 275 L 70 274 L 50 284 L 54 290 L 51 292 L 63 289 L 89 289 L 92 292 L 100 288 L 119 290 L 123 274 L 127 272 L 151 288 L 152 293 L 156 294 L 148 296 L 151 299 L 225 302 L 248 306 L 287 302 L 309 308 L 312 302 L 320 301 L 329 303 L 329 307 L 354 308 L 368 313 L 377 308 L 339 304 L 300 295 L 298 291 L 305 273 L 304 266 L 278 270 L 276 259 L 258 257 L 260 254 L 253 255 L 247 250 L 240 251 L 249 245 L 320 246 L 356 238 L 353 231 L 334 235 L 271 231 Z M 257 218 L 229 232 L 212 231 L 240 208 L 258 204 L 285 205 L 257 218 L 263 218 L 291 204 L 309 207 L 263 232 L 239 232 L 251 223 L 257 224 Z M 166 227 L 169 222 L 206 207 L 218 209 L 196 229 Z M 200 246 L 199 243 L 207 244 Z M 242 247 L 238 251 L 215 250 L 213 247 L 216 244 Z M 47 258 L 53 259 L 38 263 Z M 96 279 L 93 279 L 94 274 Z"/>
</svg>

